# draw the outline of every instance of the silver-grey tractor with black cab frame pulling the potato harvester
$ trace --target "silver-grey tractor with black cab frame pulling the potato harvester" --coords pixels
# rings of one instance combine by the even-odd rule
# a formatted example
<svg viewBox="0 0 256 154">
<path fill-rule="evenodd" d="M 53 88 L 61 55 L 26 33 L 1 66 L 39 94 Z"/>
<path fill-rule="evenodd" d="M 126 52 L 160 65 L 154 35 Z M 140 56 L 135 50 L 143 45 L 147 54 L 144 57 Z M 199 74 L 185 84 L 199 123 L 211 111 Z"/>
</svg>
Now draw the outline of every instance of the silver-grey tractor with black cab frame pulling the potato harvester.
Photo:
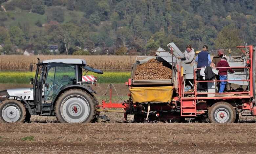
<svg viewBox="0 0 256 154">
<path fill-rule="evenodd" d="M 56 116 L 60 123 L 91 123 L 96 120 L 96 93 L 91 85 L 103 74 L 83 59 L 53 59 L 31 63 L 36 66 L 33 88 L 0 91 L 0 122 L 29 122 L 31 115 Z M 85 72 L 85 75 L 82 74 Z"/>
</svg>

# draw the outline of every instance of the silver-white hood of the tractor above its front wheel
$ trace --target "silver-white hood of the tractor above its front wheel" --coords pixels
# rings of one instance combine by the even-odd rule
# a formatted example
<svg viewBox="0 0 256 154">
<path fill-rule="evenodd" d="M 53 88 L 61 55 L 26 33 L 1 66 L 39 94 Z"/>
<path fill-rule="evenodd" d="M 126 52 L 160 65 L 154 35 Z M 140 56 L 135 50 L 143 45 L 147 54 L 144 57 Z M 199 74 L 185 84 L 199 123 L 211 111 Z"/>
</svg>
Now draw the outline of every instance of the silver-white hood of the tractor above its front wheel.
<svg viewBox="0 0 256 154">
<path fill-rule="evenodd" d="M 0 91 L 0 96 L 18 96 L 18 97 L 23 98 L 26 101 L 32 101 L 33 100 L 33 88 L 17 88 L 17 89 L 2 90 L 2 91 Z M 5 99 L 6 98 L 0 97 L 0 101 L 3 101 Z"/>
</svg>

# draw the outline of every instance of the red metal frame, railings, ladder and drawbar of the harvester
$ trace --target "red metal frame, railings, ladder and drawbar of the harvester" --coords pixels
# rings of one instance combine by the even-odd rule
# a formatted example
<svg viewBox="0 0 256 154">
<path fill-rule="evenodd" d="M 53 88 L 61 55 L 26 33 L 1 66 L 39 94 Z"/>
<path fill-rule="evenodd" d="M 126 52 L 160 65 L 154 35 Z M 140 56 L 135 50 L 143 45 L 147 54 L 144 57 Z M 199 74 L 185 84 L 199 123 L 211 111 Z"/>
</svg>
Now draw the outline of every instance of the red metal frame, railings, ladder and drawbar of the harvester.
<svg viewBox="0 0 256 154">
<path fill-rule="evenodd" d="M 249 80 L 225 80 L 225 81 L 248 81 L 249 82 L 249 90 L 246 92 L 224 92 L 222 94 L 249 94 L 249 95 L 241 95 L 241 96 L 215 96 L 215 97 L 198 97 L 197 95 L 200 94 L 220 94 L 220 93 L 207 93 L 207 92 L 197 92 L 197 83 L 198 82 L 220 82 L 220 80 L 211 80 L 211 81 L 197 81 L 196 80 L 196 70 L 201 68 L 196 68 L 194 70 L 194 92 L 184 92 L 184 83 L 183 83 L 183 73 L 182 67 L 179 70 L 179 66 L 177 66 L 177 83 L 178 83 L 178 90 L 176 90 L 178 97 L 174 97 L 173 101 L 180 101 L 181 102 L 181 117 L 194 117 L 197 115 L 201 115 L 206 113 L 205 110 L 197 111 L 197 103 L 203 100 L 235 100 L 235 99 L 249 99 L 249 102 L 244 102 L 243 109 L 248 109 L 253 112 L 253 115 L 256 115 L 256 107 L 253 107 L 253 102 L 251 102 L 253 98 L 253 74 L 252 74 L 252 64 L 253 64 L 253 46 L 240 46 L 237 48 L 249 48 L 249 61 L 247 64 L 250 64 L 250 67 L 225 67 L 225 68 L 247 68 L 249 70 Z M 220 68 L 220 67 L 216 67 Z M 222 67 L 223 68 L 223 67 Z M 125 83 L 127 86 L 131 86 L 132 82 L 131 79 L 128 79 L 128 82 Z M 184 94 L 194 94 L 194 97 L 184 97 Z M 130 94 L 129 94 L 130 96 Z M 135 104 L 133 106 L 136 106 Z M 98 105 L 97 107 L 102 108 L 98 111 L 107 111 L 107 112 L 122 112 L 124 113 L 124 118 L 126 120 L 126 109 L 128 105 L 126 103 L 113 103 L 112 102 L 112 86 L 110 87 L 110 102 L 106 103 L 102 100 L 102 105 Z M 122 108 L 123 110 L 106 110 L 106 108 Z"/>
</svg>

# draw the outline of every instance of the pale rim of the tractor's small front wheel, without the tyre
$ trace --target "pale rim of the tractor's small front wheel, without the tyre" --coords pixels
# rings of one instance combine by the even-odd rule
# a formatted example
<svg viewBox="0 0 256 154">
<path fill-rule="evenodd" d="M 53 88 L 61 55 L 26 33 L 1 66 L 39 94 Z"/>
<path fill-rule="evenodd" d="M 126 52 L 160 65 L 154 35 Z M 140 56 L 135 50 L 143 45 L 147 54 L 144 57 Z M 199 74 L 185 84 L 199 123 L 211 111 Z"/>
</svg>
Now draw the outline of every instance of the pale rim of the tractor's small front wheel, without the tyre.
<svg viewBox="0 0 256 154">
<path fill-rule="evenodd" d="M 14 104 L 7 105 L 2 110 L 2 117 L 8 123 L 16 122 L 20 118 L 20 110 Z"/>
</svg>

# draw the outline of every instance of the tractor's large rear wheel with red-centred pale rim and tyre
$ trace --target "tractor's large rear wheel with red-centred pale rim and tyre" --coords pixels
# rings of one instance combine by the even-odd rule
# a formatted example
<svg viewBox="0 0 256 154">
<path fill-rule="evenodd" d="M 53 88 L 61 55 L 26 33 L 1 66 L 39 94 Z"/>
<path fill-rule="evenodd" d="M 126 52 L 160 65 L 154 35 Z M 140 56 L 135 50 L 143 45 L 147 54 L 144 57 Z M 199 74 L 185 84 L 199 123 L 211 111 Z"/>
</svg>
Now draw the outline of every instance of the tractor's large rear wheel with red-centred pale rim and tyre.
<svg viewBox="0 0 256 154">
<path fill-rule="evenodd" d="M 67 90 L 56 101 L 55 114 L 60 123 L 92 123 L 96 115 L 93 97 L 81 89 Z"/>
</svg>

